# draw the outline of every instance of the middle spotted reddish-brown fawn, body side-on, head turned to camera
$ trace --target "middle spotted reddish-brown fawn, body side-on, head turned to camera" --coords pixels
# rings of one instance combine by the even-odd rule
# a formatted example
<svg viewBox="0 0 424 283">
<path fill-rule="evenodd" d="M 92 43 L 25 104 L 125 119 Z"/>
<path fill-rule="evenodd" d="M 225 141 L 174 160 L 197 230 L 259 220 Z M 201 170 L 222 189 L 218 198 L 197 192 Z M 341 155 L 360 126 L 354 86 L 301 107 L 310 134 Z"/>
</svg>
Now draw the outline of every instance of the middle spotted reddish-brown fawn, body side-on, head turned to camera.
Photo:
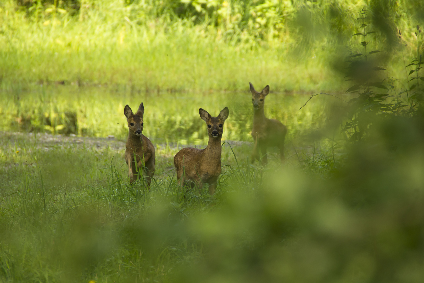
<svg viewBox="0 0 424 283">
<path fill-rule="evenodd" d="M 221 174 L 221 137 L 229 111 L 225 107 L 218 117 L 212 117 L 206 110 L 200 108 L 199 114 L 208 127 L 208 145 L 206 149 L 192 147 L 181 149 L 175 154 L 174 165 L 179 185 L 194 181 L 201 190 L 204 183 L 209 183 L 209 194 L 213 195 L 216 181 Z"/>
</svg>

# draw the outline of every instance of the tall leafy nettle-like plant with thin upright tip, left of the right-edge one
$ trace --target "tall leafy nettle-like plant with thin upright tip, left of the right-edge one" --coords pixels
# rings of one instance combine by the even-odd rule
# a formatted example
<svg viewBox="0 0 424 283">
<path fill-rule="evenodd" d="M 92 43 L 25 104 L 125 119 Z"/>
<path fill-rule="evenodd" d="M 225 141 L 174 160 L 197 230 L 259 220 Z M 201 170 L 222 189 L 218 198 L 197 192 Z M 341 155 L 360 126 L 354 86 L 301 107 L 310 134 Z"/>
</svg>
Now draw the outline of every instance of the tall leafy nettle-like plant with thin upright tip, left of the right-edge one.
<svg viewBox="0 0 424 283">
<path fill-rule="evenodd" d="M 380 50 L 368 51 L 370 41 L 369 34 L 376 31 L 369 31 L 367 23 L 368 16 L 364 8 L 360 11 L 360 17 L 357 18 L 361 23 L 358 33 L 353 36 L 360 36 L 362 41 L 362 53 L 350 52 L 348 56 L 347 81 L 354 81 L 346 92 L 357 93 L 357 96 L 348 101 L 347 121 L 342 126 L 343 132 L 350 141 L 358 141 L 365 137 L 371 126 L 372 121 L 377 116 L 388 116 L 400 114 L 407 105 L 404 101 L 392 99 L 388 101 L 388 87 L 385 85 L 387 78 L 382 79 L 381 71 L 386 70 L 378 66 L 378 58 L 375 54 Z M 381 93 L 384 92 L 384 93 Z"/>
</svg>

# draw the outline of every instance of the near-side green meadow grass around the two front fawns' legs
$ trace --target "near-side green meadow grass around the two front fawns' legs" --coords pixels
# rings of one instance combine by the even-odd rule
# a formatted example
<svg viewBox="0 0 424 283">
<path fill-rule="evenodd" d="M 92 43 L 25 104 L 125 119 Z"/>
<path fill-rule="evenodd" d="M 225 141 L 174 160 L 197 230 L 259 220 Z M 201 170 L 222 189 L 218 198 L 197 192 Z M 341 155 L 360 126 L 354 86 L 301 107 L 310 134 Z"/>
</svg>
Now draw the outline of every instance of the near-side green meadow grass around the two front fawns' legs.
<svg viewBox="0 0 424 283">
<path fill-rule="evenodd" d="M 198 195 L 176 185 L 176 151 L 157 147 L 156 179 L 147 191 L 144 181 L 128 184 L 122 149 L 3 134 L 0 222 L 8 228 L 0 233 L 1 280 L 162 282 L 176 266 L 201 258 L 201 247 L 173 223 L 184 226 L 184 219 L 213 210 L 229 182 L 257 187 L 262 173 L 240 160 L 247 174 L 223 167 L 216 196 Z M 224 165 L 237 168 L 230 155 L 224 146 Z"/>
</svg>

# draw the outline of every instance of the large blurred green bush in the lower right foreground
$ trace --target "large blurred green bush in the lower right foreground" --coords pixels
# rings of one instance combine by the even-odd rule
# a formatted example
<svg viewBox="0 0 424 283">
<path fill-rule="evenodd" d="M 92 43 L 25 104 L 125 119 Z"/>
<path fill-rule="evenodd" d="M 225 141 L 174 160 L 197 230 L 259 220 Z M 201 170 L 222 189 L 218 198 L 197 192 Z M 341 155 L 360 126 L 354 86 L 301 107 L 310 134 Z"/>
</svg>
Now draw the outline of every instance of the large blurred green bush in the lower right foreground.
<svg viewBox="0 0 424 283">
<path fill-rule="evenodd" d="M 323 181 L 276 174 L 191 223 L 206 250 L 178 282 L 421 282 L 424 119 L 374 120 Z"/>
</svg>

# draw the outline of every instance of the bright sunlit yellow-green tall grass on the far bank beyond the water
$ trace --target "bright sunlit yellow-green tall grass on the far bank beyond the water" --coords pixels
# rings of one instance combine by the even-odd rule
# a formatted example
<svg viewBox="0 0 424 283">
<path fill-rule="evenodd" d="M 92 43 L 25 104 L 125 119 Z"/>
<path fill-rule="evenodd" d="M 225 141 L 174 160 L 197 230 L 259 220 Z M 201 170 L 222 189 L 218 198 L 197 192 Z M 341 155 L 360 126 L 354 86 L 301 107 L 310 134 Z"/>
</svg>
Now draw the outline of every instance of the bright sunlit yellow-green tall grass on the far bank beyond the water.
<svg viewBox="0 0 424 283">
<path fill-rule="evenodd" d="M 3 85 L 37 81 L 124 84 L 143 90 L 240 90 L 248 81 L 274 90 L 335 90 L 322 60 L 296 63 L 287 47 L 248 50 L 219 40 L 216 31 L 190 22 L 152 20 L 131 25 L 119 8 L 89 19 L 49 25 L 0 11 Z M 287 76 L 290 74 L 290 76 Z"/>
</svg>

